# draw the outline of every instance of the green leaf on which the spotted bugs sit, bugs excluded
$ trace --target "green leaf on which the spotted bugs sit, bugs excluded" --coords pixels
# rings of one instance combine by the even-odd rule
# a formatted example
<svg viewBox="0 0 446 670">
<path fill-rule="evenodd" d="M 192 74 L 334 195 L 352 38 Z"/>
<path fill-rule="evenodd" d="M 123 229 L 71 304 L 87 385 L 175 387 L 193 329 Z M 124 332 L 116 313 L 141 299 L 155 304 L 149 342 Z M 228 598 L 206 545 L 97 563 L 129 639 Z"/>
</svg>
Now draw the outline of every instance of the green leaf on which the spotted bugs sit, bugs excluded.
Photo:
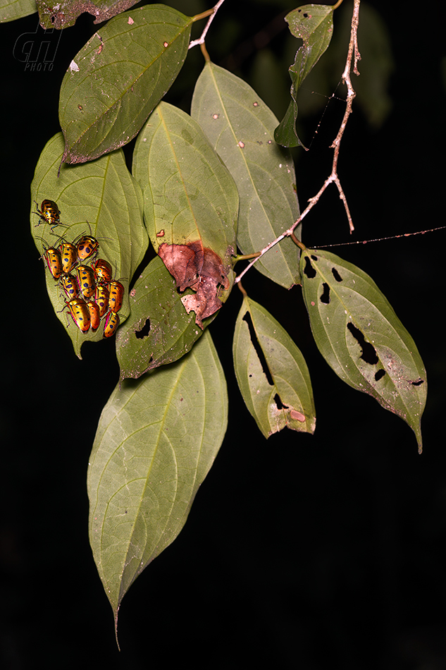
<svg viewBox="0 0 446 670">
<path fill-rule="evenodd" d="M 119 312 L 120 322 L 123 323 L 129 314 L 129 281 L 149 245 L 142 220 L 140 185 L 125 166 L 122 151 L 108 154 L 94 163 L 62 165 L 58 177 L 62 153 L 63 137 L 58 133 L 49 140 L 37 162 L 31 184 L 32 236 L 39 255 L 42 255 L 44 248 L 58 245 L 61 236 L 67 242 L 73 242 L 85 234 L 97 238 L 99 257 L 109 261 L 114 277 L 125 287 L 124 303 Z M 35 201 L 40 208 L 42 200 L 47 199 L 54 200 L 61 210 L 61 225 L 54 232 L 35 214 Z M 86 264 L 89 264 L 88 260 Z M 68 317 L 65 294 L 44 263 L 42 272 L 46 274 L 47 290 L 54 311 L 73 341 L 75 353 L 81 358 L 82 343 L 102 339 L 104 328 L 101 325 L 96 332 L 89 330 L 82 334 L 73 319 Z"/>
</svg>

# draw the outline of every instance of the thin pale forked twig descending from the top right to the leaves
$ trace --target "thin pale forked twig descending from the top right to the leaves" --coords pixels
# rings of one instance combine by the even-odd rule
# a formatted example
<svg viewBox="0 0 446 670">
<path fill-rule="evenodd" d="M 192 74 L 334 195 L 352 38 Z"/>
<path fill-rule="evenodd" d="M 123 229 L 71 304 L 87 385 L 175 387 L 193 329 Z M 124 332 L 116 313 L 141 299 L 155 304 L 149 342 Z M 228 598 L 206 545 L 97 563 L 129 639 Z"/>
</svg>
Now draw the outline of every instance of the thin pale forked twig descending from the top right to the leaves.
<svg viewBox="0 0 446 670">
<path fill-rule="evenodd" d="M 266 254 L 267 251 L 269 251 L 273 246 L 275 246 L 280 240 L 283 240 L 285 237 L 290 237 L 292 233 L 294 233 L 295 228 L 299 225 L 299 223 L 306 217 L 306 214 L 308 214 L 311 209 L 313 209 L 314 205 L 316 205 L 316 202 L 318 202 L 319 198 L 323 194 L 323 192 L 326 190 L 328 185 L 332 182 L 334 182 L 337 186 L 337 190 L 339 191 L 339 197 L 344 203 L 345 207 L 345 212 L 347 214 L 347 219 L 349 221 L 349 228 L 350 232 L 354 230 L 353 222 L 352 222 L 352 215 L 350 214 L 349 207 L 347 205 L 347 198 L 345 197 L 344 190 L 342 189 L 342 185 L 340 183 L 340 178 L 337 176 L 337 160 L 339 158 L 339 148 L 340 148 L 340 142 L 342 140 L 342 135 L 344 135 L 345 131 L 345 126 L 347 126 L 347 121 L 352 114 L 352 102 L 354 97 L 356 96 L 356 93 L 354 92 L 354 88 L 352 86 L 352 80 L 350 79 L 350 71 L 352 69 L 352 58 L 354 56 L 354 73 L 359 75 L 359 72 L 357 70 L 357 63 L 361 59 L 361 54 L 359 54 L 358 50 L 358 25 L 359 25 L 359 5 L 361 4 L 361 0 L 354 0 L 354 8 L 353 8 L 353 15 L 352 15 L 352 30 L 350 32 L 350 41 L 349 41 L 349 50 L 347 54 L 347 60 L 345 62 L 345 70 L 342 73 L 342 81 L 347 85 L 347 104 L 345 108 L 345 114 L 344 117 L 342 118 L 342 123 L 340 125 L 340 128 L 337 132 L 336 138 L 333 141 L 333 144 L 330 145 L 331 149 L 334 149 L 333 153 L 333 164 L 331 168 L 331 174 L 326 178 L 326 181 L 324 181 L 322 187 L 318 190 L 318 193 L 311 197 L 309 199 L 309 205 L 304 209 L 304 211 L 300 214 L 299 219 L 295 221 L 290 228 L 285 231 L 285 233 L 282 233 L 278 238 L 270 242 L 264 249 L 261 250 L 259 256 L 254 258 L 252 262 L 247 265 L 247 267 L 244 268 L 244 270 L 235 278 L 235 282 L 237 283 L 242 279 L 244 274 L 248 272 L 248 270 L 254 265 L 254 263 L 259 260 L 264 254 Z"/>
</svg>

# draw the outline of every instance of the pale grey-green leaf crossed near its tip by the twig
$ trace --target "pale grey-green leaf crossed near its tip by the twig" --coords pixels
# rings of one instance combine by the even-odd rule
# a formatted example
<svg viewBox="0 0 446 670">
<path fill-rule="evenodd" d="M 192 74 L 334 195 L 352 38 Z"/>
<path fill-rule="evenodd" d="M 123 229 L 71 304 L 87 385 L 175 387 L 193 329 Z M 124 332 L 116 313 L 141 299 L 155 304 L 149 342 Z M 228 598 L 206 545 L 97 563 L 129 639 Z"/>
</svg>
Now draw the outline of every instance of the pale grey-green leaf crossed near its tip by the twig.
<svg viewBox="0 0 446 670">
<path fill-rule="evenodd" d="M 273 140 L 277 118 L 250 86 L 210 62 L 195 86 L 191 114 L 237 184 L 237 245 L 243 254 L 260 251 L 299 217 L 292 157 Z M 300 283 L 299 250 L 287 238 L 256 268 L 290 288 Z"/>
</svg>

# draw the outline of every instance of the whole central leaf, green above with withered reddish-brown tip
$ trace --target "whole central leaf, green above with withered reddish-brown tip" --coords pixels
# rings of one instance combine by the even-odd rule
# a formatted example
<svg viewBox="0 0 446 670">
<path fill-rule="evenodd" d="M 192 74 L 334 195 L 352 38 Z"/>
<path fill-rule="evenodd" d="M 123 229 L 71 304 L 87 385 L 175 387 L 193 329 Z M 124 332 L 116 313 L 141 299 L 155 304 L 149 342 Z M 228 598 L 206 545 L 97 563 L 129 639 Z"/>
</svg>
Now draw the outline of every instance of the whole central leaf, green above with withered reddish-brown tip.
<svg viewBox="0 0 446 670">
<path fill-rule="evenodd" d="M 133 173 L 144 189 L 144 217 L 155 251 L 175 277 L 196 323 L 228 298 L 234 273 L 239 198 L 233 178 L 188 114 L 161 102 L 140 133 Z"/>
</svg>

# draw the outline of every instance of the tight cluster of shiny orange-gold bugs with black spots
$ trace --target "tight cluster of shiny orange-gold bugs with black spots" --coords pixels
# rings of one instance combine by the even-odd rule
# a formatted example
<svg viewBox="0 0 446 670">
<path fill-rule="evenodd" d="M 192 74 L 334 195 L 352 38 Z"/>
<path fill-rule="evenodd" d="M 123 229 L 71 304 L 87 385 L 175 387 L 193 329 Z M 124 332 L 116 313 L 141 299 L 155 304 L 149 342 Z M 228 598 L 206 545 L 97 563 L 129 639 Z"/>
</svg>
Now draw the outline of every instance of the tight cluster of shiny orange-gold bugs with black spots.
<svg viewBox="0 0 446 670">
<path fill-rule="evenodd" d="M 120 281 L 112 279 L 113 271 L 107 260 L 97 258 L 92 262 L 98 250 L 99 242 L 91 235 L 80 235 L 73 243 L 61 237 L 54 247 L 44 246 L 42 257 L 66 293 L 66 307 L 78 329 L 82 333 L 90 328 L 97 331 L 104 317 L 104 337 L 111 337 L 119 325 L 118 312 L 125 289 Z"/>
</svg>

